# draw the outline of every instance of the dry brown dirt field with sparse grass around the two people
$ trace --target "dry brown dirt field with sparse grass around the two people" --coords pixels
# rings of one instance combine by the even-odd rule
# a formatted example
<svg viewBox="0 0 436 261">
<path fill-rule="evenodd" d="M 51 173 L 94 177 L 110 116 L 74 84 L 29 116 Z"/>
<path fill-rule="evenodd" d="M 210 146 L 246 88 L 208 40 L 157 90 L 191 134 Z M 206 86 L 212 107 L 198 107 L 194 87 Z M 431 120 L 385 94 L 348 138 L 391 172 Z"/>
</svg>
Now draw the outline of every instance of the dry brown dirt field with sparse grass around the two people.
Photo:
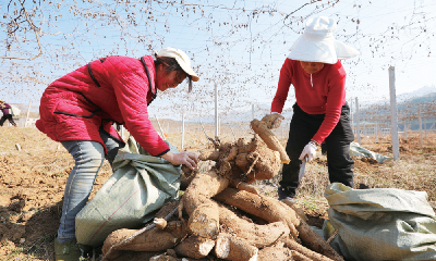
<svg viewBox="0 0 436 261">
<path fill-rule="evenodd" d="M 73 166 L 72 157 L 60 144 L 36 128 L 0 129 L 0 260 L 55 260 L 53 238 L 59 226 L 64 184 Z M 196 134 L 187 135 L 198 137 Z M 417 134 L 409 134 L 408 140 L 401 139 L 399 162 L 378 164 L 355 158 L 355 188 L 423 190 L 434 206 L 435 137 L 435 134 L 427 133 L 421 147 Z M 179 140 L 178 137 L 175 139 Z M 391 145 L 387 139 L 379 139 L 376 144 L 364 138 L 362 146 L 391 157 Z M 191 146 L 187 149 L 198 153 L 204 148 Z M 111 170 L 106 162 L 92 196 L 110 175 Z M 279 178 L 278 175 L 271 181 L 257 182 L 256 186 L 263 194 L 277 197 Z M 323 197 L 327 185 L 326 157 L 319 151 L 318 159 L 306 166 L 306 175 L 296 197 L 296 203 L 308 215 L 311 225 L 320 226 L 327 219 L 328 203 Z"/>
</svg>

